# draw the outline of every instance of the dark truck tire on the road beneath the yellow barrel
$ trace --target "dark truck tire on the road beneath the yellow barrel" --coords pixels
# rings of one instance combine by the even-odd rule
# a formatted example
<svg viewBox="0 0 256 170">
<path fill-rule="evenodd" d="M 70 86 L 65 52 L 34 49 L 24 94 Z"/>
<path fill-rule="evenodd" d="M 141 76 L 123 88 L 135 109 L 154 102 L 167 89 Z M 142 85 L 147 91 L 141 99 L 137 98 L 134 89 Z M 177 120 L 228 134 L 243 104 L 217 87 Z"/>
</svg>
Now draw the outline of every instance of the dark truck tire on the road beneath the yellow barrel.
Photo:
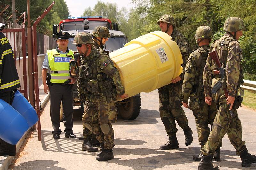
<svg viewBox="0 0 256 170">
<path fill-rule="evenodd" d="M 134 120 L 139 116 L 141 99 L 140 96 L 132 96 L 130 98 L 124 99 L 124 102 L 118 104 L 118 112 L 122 119 L 124 120 Z"/>
</svg>

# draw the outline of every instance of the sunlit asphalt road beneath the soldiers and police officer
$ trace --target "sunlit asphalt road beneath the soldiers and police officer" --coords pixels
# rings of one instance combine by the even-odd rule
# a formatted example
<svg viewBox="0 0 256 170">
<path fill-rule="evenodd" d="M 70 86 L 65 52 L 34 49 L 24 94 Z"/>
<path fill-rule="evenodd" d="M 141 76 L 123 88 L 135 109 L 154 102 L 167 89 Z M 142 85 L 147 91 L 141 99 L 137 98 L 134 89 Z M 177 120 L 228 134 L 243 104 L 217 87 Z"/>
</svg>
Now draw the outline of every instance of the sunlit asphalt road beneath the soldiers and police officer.
<svg viewBox="0 0 256 170">
<path fill-rule="evenodd" d="M 82 141 L 65 138 L 64 133 L 59 140 L 52 139 L 52 125 L 50 121 L 50 104 L 48 103 L 41 116 L 42 141 L 38 141 L 36 131 L 25 141 L 21 152 L 9 166 L 14 170 L 73 170 L 73 169 L 173 169 L 193 170 L 198 163 L 193 161 L 194 154 L 199 152 L 200 146 L 196 132 L 195 119 L 191 110 L 184 108 L 189 126 L 193 130 L 194 141 L 190 146 L 184 144 L 184 134 L 178 128 L 177 138 L 179 149 L 159 150 L 159 146 L 167 142 L 168 137 L 161 122 L 158 109 L 157 90 L 142 93 L 140 115 L 133 121 L 125 121 L 120 117 L 113 124 L 115 131 L 114 159 L 107 162 L 97 162 L 96 152 L 81 150 Z M 239 118 L 242 122 L 243 140 L 251 154 L 256 155 L 256 112 L 245 107 L 239 108 Z M 74 134 L 82 136 L 81 110 L 74 109 Z M 177 125 L 178 126 L 178 125 Z M 64 130 L 63 123 L 61 129 Z M 227 135 L 223 138 L 221 161 L 217 163 L 221 170 L 255 169 L 241 167 L 241 159 L 235 154 Z"/>
</svg>

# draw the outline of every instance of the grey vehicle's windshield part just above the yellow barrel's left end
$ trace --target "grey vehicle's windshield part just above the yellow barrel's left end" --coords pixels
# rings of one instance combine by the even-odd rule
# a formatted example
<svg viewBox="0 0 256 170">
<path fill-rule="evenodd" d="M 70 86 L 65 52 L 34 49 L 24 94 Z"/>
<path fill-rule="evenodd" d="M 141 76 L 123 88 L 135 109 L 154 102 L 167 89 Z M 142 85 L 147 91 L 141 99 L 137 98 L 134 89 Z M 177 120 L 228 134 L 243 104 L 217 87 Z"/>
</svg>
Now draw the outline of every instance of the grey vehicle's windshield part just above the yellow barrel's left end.
<svg viewBox="0 0 256 170">
<path fill-rule="evenodd" d="M 104 48 L 109 50 L 109 52 L 118 50 L 119 48 L 124 47 L 127 43 L 126 37 L 110 37 L 104 45 Z"/>
</svg>

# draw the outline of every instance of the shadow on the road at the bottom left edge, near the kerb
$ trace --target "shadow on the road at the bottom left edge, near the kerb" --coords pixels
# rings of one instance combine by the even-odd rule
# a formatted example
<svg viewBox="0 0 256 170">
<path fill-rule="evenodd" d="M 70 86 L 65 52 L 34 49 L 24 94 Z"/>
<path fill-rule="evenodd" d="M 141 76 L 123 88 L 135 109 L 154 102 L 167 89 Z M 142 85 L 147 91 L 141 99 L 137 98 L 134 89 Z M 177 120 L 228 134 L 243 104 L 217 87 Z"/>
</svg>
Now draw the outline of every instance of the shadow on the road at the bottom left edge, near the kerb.
<svg viewBox="0 0 256 170">
<path fill-rule="evenodd" d="M 13 166 L 12 168 L 13 169 L 26 169 L 26 170 L 35 170 L 35 169 L 66 170 L 65 168 L 54 166 L 55 164 L 58 164 L 58 163 L 59 163 L 58 161 L 54 161 L 54 160 L 33 160 L 33 161 L 23 162 L 20 165 Z"/>
</svg>

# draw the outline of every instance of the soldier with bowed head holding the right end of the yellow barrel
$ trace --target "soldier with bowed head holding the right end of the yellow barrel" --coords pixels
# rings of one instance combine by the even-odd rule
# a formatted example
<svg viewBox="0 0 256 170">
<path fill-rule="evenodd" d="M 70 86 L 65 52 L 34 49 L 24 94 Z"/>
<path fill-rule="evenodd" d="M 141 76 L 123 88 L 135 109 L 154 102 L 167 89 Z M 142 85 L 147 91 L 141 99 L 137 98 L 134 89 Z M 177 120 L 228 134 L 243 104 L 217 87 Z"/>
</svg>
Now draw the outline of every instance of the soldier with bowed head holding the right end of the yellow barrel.
<svg viewBox="0 0 256 170">
<path fill-rule="evenodd" d="M 169 137 L 168 142 L 165 145 L 160 146 L 160 150 L 168 150 L 179 148 L 179 143 L 176 138 L 176 124 L 183 129 L 185 135 L 185 145 L 188 146 L 192 143 L 192 130 L 188 126 L 188 119 L 185 115 L 184 110 L 181 108 L 182 101 L 182 82 L 185 73 L 186 62 L 189 57 L 189 47 L 184 35 L 178 32 L 175 28 L 175 20 L 171 15 L 163 15 L 157 24 L 161 30 L 172 37 L 172 41 L 175 41 L 180 48 L 180 52 L 183 58 L 183 72 L 180 76 L 172 79 L 172 83 L 163 86 L 158 89 L 159 92 L 159 112 L 161 120 L 165 126 L 167 136 Z"/>
</svg>

